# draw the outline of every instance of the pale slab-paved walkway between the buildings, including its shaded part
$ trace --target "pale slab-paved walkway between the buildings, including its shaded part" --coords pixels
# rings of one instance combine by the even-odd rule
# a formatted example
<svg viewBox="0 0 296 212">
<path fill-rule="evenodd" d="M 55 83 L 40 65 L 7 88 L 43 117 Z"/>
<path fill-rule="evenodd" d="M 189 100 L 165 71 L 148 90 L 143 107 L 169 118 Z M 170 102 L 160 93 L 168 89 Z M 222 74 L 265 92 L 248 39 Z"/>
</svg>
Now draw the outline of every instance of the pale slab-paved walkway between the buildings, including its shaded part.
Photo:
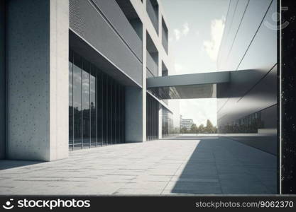
<svg viewBox="0 0 296 212">
<path fill-rule="evenodd" d="M 274 155 L 225 137 L 177 137 L 0 160 L 0 194 L 275 194 Z"/>
</svg>

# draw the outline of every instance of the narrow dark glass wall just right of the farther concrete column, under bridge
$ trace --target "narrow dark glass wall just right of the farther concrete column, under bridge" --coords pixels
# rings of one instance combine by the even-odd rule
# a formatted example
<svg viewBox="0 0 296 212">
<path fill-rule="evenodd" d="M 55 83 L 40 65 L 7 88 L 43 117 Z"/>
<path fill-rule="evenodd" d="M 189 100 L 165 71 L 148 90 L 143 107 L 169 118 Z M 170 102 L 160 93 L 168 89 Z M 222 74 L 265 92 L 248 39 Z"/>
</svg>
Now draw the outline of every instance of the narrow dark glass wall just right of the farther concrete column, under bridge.
<svg viewBox="0 0 296 212">
<path fill-rule="evenodd" d="M 159 103 L 150 94 L 146 95 L 146 139 L 158 139 Z"/>
</svg>

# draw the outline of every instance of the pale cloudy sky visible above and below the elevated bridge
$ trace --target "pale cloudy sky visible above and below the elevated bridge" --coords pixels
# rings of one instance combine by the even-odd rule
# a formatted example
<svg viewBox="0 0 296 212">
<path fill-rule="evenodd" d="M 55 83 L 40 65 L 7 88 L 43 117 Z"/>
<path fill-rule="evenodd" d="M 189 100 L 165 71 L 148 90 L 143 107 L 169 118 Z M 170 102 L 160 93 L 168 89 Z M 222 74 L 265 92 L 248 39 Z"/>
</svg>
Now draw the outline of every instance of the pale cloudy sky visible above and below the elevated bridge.
<svg viewBox="0 0 296 212">
<path fill-rule="evenodd" d="M 223 36 L 229 0 L 161 0 L 169 28 L 169 51 L 175 73 L 217 71 L 216 57 Z M 216 99 L 170 100 L 179 102 L 183 118 L 216 125 Z"/>
</svg>

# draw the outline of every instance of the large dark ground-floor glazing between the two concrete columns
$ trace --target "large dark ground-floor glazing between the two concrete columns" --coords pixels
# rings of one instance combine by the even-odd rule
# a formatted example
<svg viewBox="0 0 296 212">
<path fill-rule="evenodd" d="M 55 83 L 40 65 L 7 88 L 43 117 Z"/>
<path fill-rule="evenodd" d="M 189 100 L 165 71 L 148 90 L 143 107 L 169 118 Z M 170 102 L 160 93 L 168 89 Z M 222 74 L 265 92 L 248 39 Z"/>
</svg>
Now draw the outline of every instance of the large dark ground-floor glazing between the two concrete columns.
<svg viewBox="0 0 296 212">
<path fill-rule="evenodd" d="M 124 97 L 124 86 L 70 50 L 70 150 L 124 143 Z"/>
</svg>

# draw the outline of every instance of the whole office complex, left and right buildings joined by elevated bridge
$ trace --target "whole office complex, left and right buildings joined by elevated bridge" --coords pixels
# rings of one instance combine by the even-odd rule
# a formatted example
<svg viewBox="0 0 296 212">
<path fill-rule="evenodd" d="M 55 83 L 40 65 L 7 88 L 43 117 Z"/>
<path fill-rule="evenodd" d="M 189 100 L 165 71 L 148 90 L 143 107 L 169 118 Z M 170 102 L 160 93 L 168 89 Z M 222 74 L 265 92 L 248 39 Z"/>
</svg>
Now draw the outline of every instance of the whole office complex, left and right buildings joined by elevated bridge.
<svg viewBox="0 0 296 212">
<path fill-rule="evenodd" d="M 220 71 L 180 76 L 158 0 L 1 4 L 1 158 L 168 136 L 181 98 L 217 98 L 219 133 L 277 153 L 276 0 L 229 1 Z"/>
</svg>

